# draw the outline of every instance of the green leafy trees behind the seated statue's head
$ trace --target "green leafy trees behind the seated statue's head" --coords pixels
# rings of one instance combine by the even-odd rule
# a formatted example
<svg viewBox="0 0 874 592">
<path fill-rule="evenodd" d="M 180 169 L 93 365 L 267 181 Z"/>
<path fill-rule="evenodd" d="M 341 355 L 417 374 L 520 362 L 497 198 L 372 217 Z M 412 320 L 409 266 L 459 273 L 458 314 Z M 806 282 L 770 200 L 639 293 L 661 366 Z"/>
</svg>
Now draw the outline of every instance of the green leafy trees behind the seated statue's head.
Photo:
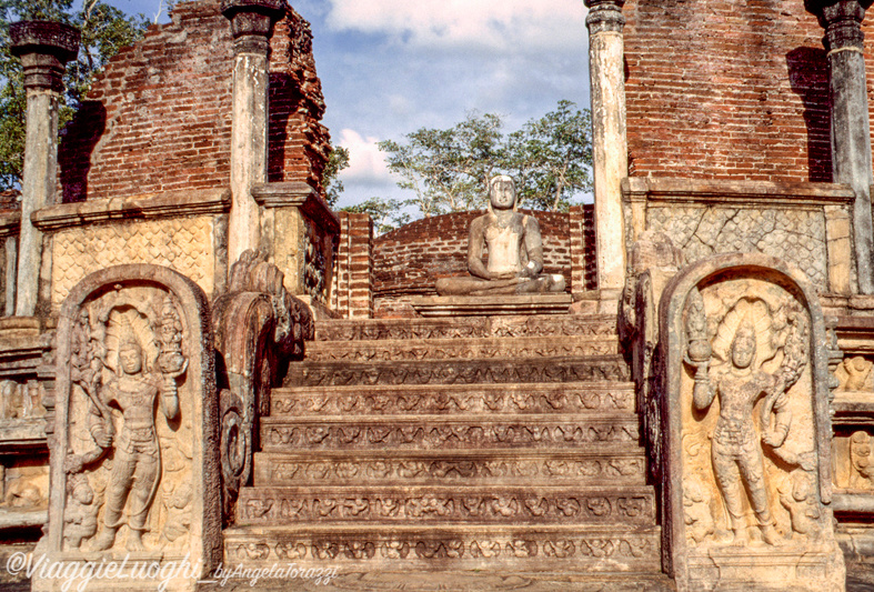
<svg viewBox="0 0 874 592">
<path fill-rule="evenodd" d="M 566 210 L 592 188 L 589 110 L 571 101 L 508 136 L 500 116 L 469 113 L 452 128 L 422 128 L 379 147 L 398 185 L 413 193 L 402 204 L 425 218 L 483 208 L 489 179 L 498 173 L 513 177 L 528 208 Z"/>
</svg>

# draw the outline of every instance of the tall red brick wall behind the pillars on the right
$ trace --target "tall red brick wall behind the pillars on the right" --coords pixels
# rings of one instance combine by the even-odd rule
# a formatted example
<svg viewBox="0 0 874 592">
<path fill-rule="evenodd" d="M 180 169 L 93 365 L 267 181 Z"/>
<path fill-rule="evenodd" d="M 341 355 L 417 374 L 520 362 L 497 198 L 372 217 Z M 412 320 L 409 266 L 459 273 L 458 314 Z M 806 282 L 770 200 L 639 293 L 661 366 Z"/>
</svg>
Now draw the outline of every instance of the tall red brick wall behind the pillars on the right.
<svg viewBox="0 0 874 592">
<path fill-rule="evenodd" d="M 623 13 L 632 175 L 832 180 L 824 31 L 804 2 L 629 0 Z"/>
</svg>

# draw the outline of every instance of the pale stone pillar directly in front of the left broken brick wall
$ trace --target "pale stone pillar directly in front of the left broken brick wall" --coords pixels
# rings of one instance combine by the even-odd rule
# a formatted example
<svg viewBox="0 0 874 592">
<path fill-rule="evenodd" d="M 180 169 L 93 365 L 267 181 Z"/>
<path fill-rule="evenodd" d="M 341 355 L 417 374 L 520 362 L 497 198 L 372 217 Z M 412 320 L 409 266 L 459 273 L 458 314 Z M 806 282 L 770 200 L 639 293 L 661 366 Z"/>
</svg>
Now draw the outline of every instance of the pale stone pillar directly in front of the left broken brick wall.
<svg viewBox="0 0 874 592">
<path fill-rule="evenodd" d="M 281 0 L 224 0 L 222 14 L 233 34 L 233 121 L 231 124 L 231 205 L 228 260 L 260 243 L 259 209 L 250 194 L 267 182 L 268 53 Z"/>
</svg>

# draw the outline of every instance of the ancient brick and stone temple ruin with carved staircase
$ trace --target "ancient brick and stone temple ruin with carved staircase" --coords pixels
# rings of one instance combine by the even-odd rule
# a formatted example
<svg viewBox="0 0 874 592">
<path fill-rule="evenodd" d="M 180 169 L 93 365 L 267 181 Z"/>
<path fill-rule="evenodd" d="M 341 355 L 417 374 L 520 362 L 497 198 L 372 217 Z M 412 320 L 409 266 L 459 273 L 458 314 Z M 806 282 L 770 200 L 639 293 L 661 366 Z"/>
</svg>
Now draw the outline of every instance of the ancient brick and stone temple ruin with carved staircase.
<svg viewBox="0 0 874 592">
<path fill-rule="evenodd" d="M 595 203 L 381 237 L 322 199 L 305 14 L 181 3 L 59 132 L 77 32 L 17 26 L 43 148 L 0 210 L 0 551 L 189 553 L 172 590 L 844 590 L 874 552 L 868 4 L 586 0 Z M 525 235 L 512 278 L 476 275 L 483 220 Z"/>
</svg>

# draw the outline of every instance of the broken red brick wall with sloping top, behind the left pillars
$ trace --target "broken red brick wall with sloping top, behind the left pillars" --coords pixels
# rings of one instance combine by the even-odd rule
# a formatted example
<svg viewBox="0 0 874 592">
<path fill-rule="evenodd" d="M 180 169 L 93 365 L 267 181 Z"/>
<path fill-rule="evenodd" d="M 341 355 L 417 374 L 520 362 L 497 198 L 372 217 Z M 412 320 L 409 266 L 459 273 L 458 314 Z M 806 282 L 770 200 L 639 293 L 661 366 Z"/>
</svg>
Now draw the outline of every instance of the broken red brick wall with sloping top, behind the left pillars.
<svg viewBox="0 0 874 592">
<path fill-rule="evenodd" d="M 120 51 L 62 132 L 63 201 L 227 187 L 232 63 L 215 0 L 178 4 Z M 329 136 L 309 24 L 293 10 L 277 24 L 270 79 L 269 180 L 318 188 Z"/>
</svg>

